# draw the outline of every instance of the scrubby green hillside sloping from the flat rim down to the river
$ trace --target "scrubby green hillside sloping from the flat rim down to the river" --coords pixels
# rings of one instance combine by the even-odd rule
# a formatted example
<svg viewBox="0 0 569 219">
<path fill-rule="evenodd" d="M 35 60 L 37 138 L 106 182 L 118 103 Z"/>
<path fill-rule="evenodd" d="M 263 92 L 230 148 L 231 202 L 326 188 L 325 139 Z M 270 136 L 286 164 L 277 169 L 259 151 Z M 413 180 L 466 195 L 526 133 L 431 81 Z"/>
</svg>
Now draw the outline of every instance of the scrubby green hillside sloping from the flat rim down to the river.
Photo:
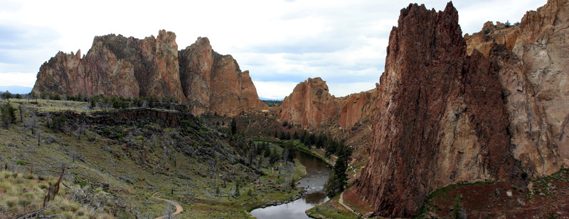
<svg viewBox="0 0 569 219">
<path fill-rule="evenodd" d="M 1 164 L 19 173 L 33 168 L 38 176 L 57 176 L 63 165 L 65 181 L 100 188 L 128 203 L 120 211 L 88 208 L 96 212 L 154 218 L 166 209 L 164 201 L 151 198 L 161 191 L 163 198 L 181 203 L 182 218 L 248 218 L 250 208 L 302 192 L 289 188 L 289 181 L 302 176 L 302 165 L 280 162 L 279 145 L 232 135 L 229 123 L 208 127 L 170 106 L 92 109 L 86 102 L 43 99 L 9 103 L 22 106 L 22 113 L 16 110 L 15 123 L 0 132 Z M 273 172 L 277 167 L 283 171 Z M 240 196 L 235 196 L 237 184 Z M 29 201 L 37 206 L 42 200 Z"/>
</svg>

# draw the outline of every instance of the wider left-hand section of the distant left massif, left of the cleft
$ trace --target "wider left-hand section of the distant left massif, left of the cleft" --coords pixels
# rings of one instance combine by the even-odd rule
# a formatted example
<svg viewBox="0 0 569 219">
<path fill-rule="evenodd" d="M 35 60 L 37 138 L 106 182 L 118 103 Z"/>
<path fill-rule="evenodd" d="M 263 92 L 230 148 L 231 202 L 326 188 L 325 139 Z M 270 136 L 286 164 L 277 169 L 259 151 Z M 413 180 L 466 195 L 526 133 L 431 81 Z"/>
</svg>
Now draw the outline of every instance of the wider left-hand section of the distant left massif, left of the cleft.
<svg viewBox="0 0 569 219">
<path fill-rule="evenodd" d="M 85 57 L 59 52 L 38 72 L 33 91 L 105 96 L 186 98 L 179 82 L 176 35 L 158 38 L 95 37 Z M 66 59 L 63 57 L 67 57 Z"/>
</svg>

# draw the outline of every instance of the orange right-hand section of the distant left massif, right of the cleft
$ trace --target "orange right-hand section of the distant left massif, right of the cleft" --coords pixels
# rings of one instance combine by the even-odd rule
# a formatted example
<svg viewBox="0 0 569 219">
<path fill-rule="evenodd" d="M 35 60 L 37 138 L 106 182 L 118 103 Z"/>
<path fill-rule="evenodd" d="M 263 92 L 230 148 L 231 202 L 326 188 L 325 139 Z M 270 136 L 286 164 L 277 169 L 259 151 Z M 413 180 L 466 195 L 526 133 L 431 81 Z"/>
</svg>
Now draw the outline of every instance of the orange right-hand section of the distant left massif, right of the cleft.
<svg viewBox="0 0 569 219">
<path fill-rule="evenodd" d="M 193 113 L 235 116 L 267 108 L 257 96 L 249 71 L 241 72 L 233 57 L 213 51 L 208 38 L 198 38 L 179 57 L 181 84 Z"/>
</svg>

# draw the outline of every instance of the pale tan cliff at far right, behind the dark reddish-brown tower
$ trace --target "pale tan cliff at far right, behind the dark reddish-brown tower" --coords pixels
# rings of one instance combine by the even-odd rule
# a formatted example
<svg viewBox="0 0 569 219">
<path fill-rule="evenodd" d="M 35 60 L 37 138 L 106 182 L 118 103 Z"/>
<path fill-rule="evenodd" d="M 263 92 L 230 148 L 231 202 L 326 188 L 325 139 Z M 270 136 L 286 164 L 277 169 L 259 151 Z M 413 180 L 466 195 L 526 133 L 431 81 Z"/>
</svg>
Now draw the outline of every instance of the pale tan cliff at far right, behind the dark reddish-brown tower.
<svg viewBox="0 0 569 219">
<path fill-rule="evenodd" d="M 488 34 L 465 37 L 469 51 L 481 50 L 501 67 L 512 152 L 532 176 L 553 174 L 569 164 L 568 12 L 568 1 L 548 1 L 528 11 L 518 26 L 486 23 Z M 507 50 L 496 50 L 494 43 Z"/>
</svg>

